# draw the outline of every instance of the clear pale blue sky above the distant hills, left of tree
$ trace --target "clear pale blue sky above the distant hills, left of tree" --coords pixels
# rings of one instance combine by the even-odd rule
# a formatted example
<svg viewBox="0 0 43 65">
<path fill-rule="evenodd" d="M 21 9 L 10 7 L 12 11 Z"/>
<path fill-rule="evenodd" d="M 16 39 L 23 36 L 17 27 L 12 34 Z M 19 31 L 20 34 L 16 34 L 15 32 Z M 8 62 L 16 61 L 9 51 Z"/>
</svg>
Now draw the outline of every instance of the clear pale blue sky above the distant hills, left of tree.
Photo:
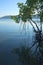
<svg viewBox="0 0 43 65">
<path fill-rule="evenodd" d="M 26 0 L 0 0 L 0 17 L 7 15 L 17 15 L 19 8 L 18 2 L 24 2 Z"/>
</svg>

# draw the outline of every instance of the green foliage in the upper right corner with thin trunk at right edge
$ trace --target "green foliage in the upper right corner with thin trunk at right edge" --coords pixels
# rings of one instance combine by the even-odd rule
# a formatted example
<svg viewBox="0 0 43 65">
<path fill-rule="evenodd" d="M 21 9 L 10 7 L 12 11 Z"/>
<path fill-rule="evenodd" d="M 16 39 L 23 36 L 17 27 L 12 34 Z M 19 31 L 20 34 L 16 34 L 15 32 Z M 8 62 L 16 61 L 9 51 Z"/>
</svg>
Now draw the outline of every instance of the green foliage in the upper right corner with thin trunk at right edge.
<svg viewBox="0 0 43 65">
<path fill-rule="evenodd" d="M 43 0 L 27 0 L 26 4 L 31 8 L 33 12 L 37 12 L 37 15 L 40 17 L 40 31 L 42 32 L 42 22 L 43 22 Z M 34 13 L 34 14 L 35 14 Z"/>
</svg>

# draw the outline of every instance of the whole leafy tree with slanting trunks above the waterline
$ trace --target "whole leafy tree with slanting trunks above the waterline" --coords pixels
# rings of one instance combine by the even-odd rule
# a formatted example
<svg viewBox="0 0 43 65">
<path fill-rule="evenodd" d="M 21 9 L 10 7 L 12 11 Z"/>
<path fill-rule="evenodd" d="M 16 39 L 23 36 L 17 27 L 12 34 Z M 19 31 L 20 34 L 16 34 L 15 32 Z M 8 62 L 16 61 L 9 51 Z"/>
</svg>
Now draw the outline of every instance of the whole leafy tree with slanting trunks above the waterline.
<svg viewBox="0 0 43 65">
<path fill-rule="evenodd" d="M 32 23 L 34 23 L 35 26 L 37 27 L 37 31 L 42 31 L 42 22 L 43 22 L 42 21 L 42 19 L 43 19 L 43 15 L 42 15 L 43 3 L 42 2 L 43 2 L 42 0 L 26 0 L 26 3 L 18 3 L 19 15 L 16 16 L 16 19 L 15 19 L 15 17 L 13 19 L 15 19 L 16 22 L 18 22 L 18 21 L 20 22 L 20 20 L 22 20 L 24 23 L 27 22 L 27 20 L 28 20 L 31 23 L 31 25 L 33 26 L 34 31 L 36 31 L 36 30 Z M 32 17 L 34 15 L 38 15 L 40 17 L 40 22 L 41 22 L 40 29 L 39 29 L 37 23 L 32 20 Z"/>
</svg>

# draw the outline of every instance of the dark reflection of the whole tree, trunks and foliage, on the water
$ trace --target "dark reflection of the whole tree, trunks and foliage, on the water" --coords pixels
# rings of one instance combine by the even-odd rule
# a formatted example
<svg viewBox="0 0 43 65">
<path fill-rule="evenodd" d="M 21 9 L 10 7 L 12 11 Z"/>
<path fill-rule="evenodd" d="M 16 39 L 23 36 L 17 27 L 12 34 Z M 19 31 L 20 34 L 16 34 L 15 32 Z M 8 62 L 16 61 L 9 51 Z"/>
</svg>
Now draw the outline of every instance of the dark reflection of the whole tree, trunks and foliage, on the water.
<svg viewBox="0 0 43 65">
<path fill-rule="evenodd" d="M 32 53 L 32 48 L 37 44 L 35 51 Z M 43 36 L 40 31 L 35 33 L 35 38 L 32 47 L 14 48 L 13 53 L 18 54 L 19 61 L 22 65 L 43 65 Z"/>
</svg>

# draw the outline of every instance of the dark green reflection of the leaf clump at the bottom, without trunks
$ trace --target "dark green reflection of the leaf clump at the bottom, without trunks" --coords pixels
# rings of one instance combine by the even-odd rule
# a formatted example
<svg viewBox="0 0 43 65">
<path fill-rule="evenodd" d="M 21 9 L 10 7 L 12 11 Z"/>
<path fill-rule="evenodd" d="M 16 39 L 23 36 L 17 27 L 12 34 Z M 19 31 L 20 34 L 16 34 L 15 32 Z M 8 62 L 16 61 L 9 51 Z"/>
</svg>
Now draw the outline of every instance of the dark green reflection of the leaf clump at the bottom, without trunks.
<svg viewBox="0 0 43 65">
<path fill-rule="evenodd" d="M 18 54 L 22 65 L 36 65 L 36 58 L 32 55 L 30 48 L 23 46 L 21 48 L 14 48 L 12 52 Z"/>
</svg>

